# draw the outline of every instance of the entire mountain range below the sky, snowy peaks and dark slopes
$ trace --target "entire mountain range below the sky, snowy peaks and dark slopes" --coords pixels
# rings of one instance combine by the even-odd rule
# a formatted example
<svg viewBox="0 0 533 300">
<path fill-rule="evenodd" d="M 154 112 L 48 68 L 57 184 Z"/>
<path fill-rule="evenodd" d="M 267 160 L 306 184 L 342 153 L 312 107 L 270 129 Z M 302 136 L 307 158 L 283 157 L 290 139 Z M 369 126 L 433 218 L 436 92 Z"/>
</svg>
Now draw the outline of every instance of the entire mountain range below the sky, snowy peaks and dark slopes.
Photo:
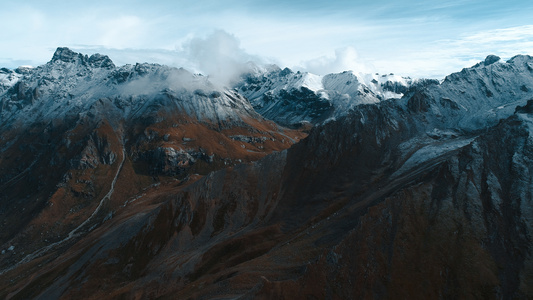
<svg viewBox="0 0 533 300">
<path fill-rule="evenodd" d="M 0 296 L 533 297 L 533 58 L 0 70 Z"/>
</svg>

